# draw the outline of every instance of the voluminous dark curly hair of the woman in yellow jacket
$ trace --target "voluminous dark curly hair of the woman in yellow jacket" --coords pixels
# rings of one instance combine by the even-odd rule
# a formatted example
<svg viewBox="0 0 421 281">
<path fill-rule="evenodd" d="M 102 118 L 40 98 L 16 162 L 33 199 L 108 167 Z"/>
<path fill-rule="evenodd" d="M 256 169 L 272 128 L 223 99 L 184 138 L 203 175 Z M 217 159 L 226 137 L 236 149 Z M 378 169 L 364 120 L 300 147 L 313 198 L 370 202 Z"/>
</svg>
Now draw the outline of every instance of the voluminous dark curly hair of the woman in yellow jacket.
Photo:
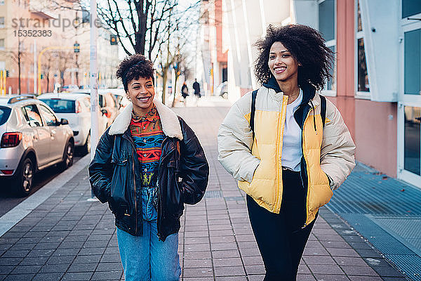
<svg viewBox="0 0 421 281">
<path fill-rule="evenodd" d="M 258 40 L 255 46 L 259 55 L 255 60 L 255 76 L 260 84 L 265 84 L 272 77 L 269 70 L 269 51 L 274 42 L 281 42 L 295 60 L 298 67 L 298 85 L 310 83 L 316 89 L 323 89 L 327 79 L 332 77 L 334 53 L 326 47 L 321 34 L 305 25 L 286 25 L 274 27 L 269 25 L 265 38 Z"/>
</svg>

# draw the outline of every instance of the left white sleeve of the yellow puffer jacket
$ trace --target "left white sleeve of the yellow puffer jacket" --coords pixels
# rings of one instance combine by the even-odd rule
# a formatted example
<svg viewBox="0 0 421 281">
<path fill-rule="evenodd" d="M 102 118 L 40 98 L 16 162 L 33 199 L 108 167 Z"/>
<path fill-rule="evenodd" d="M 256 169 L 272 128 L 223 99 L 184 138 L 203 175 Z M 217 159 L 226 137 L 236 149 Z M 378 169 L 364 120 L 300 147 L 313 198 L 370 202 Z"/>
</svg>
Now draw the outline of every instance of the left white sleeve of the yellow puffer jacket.
<svg viewBox="0 0 421 281">
<path fill-rule="evenodd" d="M 245 117 L 248 112 L 241 112 L 239 107 L 243 101 L 239 100 L 231 107 L 220 126 L 218 160 L 237 181 L 250 183 L 260 159 L 251 154 L 253 134 Z"/>
</svg>

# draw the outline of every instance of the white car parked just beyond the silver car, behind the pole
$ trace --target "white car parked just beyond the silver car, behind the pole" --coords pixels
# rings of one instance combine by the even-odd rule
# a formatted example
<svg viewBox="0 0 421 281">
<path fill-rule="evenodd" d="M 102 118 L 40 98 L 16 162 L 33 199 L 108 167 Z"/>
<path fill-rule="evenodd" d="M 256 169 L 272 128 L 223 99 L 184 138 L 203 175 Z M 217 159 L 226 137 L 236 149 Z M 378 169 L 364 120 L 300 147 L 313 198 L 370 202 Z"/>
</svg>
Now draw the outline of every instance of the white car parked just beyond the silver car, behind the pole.
<svg viewBox="0 0 421 281">
<path fill-rule="evenodd" d="M 74 145 L 81 147 L 83 153 L 91 150 L 91 96 L 85 93 L 44 93 L 42 100 L 60 118 L 69 120 L 73 130 Z M 99 131 L 107 129 L 107 117 L 98 109 Z"/>
</svg>

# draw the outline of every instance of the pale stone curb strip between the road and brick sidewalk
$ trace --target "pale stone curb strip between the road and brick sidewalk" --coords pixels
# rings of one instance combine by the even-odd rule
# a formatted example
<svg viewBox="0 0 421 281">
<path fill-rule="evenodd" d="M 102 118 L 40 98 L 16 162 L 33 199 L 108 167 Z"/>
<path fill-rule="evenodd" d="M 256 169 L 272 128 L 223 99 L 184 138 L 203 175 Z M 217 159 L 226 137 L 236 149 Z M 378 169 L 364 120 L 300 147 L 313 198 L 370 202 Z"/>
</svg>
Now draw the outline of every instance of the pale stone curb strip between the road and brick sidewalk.
<svg viewBox="0 0 421 281">
<path fill-rule="evenodd" d="M 28 214 L 31 213 L 36 207 L 42 204 L 48 199 L 53 193 L 65 185 L 69 180 L 71 180 L 76 174 L 79 173 L 82 169 L 85 169 L 86 166 L 91 162 L 90 155 L 85 155 L 78 162 L 73 164 L 69 169 L 63 171 L 61 174 L 53 178 L 52 181 L 44 185 L 42 188 L 37 190 L 33 195 L 27 197 L 24 201 L 20 202 L 16 207 L 8 211 L 6 214 L 0 218 L 0 237 L 4 233 L 8 232 L 16 223 L 18 223 L 22 218 L 25 218 Z"/>
</svg>

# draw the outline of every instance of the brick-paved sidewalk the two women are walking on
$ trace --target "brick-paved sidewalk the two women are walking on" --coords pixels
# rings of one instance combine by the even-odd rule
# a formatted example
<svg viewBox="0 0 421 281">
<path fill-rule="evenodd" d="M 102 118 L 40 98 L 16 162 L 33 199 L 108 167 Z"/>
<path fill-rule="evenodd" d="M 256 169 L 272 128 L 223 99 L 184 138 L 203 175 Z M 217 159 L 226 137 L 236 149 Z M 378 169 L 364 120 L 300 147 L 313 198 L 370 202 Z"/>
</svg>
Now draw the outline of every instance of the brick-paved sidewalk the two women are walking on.
<svg viewBox="0 0 421 281">
<path fill-rule="evenodd" d="M 216 159 L 216 133 L 227 110 L 175 109 L 196 131 L 210 164 L 205 198 L 187 206 L 182 217 L 182 280 L 262 280 L 265 272 L 243 194 Z M 0 237 L 0 280 L 122 280 L 114 217 L 107 204 L 86 201 L 90 196 L 83 169 Z M 340 218 L 323 209 L 298 280 L 404 280 L 396 277 L 398 273 L 380 277 L 353 243 L 370 248 Z"/>
</svg>

